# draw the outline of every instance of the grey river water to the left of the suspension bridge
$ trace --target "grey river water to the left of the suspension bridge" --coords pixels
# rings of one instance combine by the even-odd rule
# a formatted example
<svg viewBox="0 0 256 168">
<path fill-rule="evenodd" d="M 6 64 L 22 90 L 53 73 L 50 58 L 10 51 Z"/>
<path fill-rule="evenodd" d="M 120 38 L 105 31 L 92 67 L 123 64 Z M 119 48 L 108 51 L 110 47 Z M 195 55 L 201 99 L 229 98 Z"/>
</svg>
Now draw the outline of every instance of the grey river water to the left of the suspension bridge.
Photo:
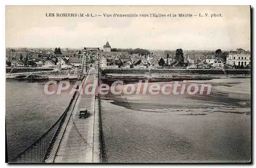
<svg viewBox="0 0 256 168">
<path fill-rule="evenodd" d="M 8 159 L 17 156 L 44 134 L 66 110 L 72 94 L 44 93 L 46 82 L 6 82 Z M 71 83 L 71 85 L 74 83 Z"/>
</svg>

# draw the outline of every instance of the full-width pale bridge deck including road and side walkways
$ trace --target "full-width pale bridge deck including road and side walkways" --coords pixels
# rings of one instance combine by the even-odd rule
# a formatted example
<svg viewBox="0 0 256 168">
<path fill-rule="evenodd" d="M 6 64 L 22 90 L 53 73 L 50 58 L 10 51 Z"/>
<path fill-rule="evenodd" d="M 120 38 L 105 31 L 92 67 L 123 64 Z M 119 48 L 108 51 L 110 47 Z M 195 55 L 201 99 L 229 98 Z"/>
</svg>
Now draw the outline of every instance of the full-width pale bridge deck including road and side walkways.
<svg viewBox="0 0 256 168">
<path fill-rule="evenodd" d="M 91 68 L 88 76 L 83 82 L 83 87 L 96 81 L 96 70 Z M 90 117 L 79 118 L 79 110 L 86 108 L 90 110 Z M 94 143 L 95 128 L 95 95 L 87 95 L 84 92 L 78 95 L 70 117 L 67 116 L 56 142 L 46 159 L 46 162 L 100 162 L 98 142 Z M 97 119 L 97 118 L 96 118 Z M 95 138 L 97 139 L 97 138 Z M 94 152 L 96 151 L 96 153 Z"/>
</svg>

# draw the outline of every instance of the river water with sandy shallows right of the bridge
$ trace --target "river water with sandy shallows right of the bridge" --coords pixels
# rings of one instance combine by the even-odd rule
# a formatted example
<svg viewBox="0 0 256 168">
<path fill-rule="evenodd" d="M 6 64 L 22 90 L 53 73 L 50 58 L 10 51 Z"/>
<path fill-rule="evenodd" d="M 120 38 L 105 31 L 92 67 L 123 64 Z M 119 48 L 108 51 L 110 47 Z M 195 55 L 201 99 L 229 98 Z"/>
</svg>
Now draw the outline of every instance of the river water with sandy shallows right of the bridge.
<svg viewBox="0 0 256 168">
<path fill-rule="evenodd" d="M 211 94 L 102 97 L 108 161 L 249 161 L 250 79 L 190 82 Z"/>
</svg>

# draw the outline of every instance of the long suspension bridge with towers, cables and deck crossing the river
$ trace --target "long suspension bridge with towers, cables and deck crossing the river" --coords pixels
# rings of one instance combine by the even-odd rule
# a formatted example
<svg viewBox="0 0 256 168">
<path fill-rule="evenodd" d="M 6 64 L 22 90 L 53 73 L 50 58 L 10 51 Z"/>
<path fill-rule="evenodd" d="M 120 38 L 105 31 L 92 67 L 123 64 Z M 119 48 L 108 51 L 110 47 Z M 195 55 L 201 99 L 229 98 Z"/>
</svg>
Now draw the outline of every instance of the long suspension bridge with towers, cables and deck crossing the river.
<svg viewBox="0 0 256 168">
<path fill-rule="evenodd" d="M 85 54 L 86 55 L 86 54 Z M 87 57 L 83 59 L 80 75 L 82 88 L 100 83 L 100 57 L 97 53 L 95 66 L 89 69 Z M 80 109 L 90 110 L 87 118 L 79 118 Z M 73 97 L 56 123 L 26 150 L 9 162 L 18 163 L 65 163 L 108 162 L 101 122 L 100 95 L 80 94 Z"/>
</svg>

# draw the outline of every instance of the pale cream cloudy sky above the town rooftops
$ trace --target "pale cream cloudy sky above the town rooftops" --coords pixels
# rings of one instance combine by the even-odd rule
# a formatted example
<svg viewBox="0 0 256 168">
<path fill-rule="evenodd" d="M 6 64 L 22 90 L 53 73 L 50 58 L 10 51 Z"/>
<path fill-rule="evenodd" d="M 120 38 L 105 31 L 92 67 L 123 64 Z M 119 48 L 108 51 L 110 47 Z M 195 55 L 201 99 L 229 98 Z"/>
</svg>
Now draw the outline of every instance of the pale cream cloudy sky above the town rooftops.
<svg viewBox="0 0 256 168">
<path fill-rule="evenodd" d="M 55 17 L 46 14 L 54 13 Z M 96 17 L 56 17 L 93 13 Z M 104 17 L 103 14 L 193 17 Z M 207 17 L 199 17 L 208 13 Z M 221 14 L 222 17 L 209 17 Z M 6 47 L 250 50 L 249 6 L 6 6 Z"/>
</svg>

